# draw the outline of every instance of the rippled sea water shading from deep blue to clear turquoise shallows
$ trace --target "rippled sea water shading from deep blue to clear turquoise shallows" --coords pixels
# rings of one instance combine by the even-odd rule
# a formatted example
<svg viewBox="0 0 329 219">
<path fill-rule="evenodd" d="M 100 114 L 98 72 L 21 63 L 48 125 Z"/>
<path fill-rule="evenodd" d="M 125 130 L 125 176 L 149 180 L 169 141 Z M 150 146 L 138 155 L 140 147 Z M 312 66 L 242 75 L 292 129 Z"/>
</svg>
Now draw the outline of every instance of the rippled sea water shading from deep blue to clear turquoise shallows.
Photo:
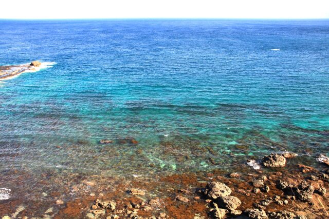
<svg viewBox="0 0 329 219">
<path fill-rule="evenodd" d="M 329 155 L 329 21 L 0 20 L 0 65 L 36 59 L 0 84 L 3 187 Z"/>
</svg>

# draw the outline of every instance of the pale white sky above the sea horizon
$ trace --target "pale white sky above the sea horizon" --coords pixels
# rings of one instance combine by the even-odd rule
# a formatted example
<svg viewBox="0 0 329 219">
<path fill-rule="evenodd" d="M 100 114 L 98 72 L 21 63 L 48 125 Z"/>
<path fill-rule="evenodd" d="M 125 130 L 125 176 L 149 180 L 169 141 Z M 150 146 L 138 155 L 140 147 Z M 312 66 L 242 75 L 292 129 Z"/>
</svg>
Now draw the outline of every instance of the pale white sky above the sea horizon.
<svg viewBox="0 0 329 219">
<path fill-rule="evenodd" d="M 2 0 L 0 18 L 329 18 L 329 0 Z"/>
</svg>

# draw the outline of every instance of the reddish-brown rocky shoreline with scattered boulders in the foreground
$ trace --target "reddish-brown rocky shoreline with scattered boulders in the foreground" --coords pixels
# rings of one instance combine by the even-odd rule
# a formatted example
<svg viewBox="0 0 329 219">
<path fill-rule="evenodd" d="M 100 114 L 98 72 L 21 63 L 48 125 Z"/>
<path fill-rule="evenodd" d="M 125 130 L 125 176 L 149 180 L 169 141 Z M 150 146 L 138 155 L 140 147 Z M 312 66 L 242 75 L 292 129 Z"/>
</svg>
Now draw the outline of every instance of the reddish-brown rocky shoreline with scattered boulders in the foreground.
<svg viewBox="0 0 329 219">
<path fill-rule="evenodd" d="M 304 164 L 286 167 L 288 160 L 296 156 L 270 154 L 258 162 L 261 169 L 241 172 L 213 171 L 132 181 L 107 178 L 107 186 L 106 182 L 89 177 L 68 190 L 79 192 L 74 200 L 53 193 L 53 207 L 50 204 L 45 209 L 45 203 L 35 201 L 19 213 L 17 203 L 12 209 L 16 213 L 11 213 L 9 204 L 0 203 L 0 215 L 5 215 L 4 219 L 328 218 L 327 164 L 323 162 L 321 170 Z M 43 215 L 36 216 L 41 208 L 45 209 Z"/>
</svg>

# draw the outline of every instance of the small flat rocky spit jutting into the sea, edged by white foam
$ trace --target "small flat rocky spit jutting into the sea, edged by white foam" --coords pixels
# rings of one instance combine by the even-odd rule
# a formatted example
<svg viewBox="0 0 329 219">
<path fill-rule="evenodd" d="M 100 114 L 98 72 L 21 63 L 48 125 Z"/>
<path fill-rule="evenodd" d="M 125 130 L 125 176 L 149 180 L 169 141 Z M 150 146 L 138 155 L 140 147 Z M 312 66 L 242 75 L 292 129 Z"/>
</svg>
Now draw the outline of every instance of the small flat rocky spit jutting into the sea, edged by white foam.
<svg viewBox="0 0 329 219">
<path fill-rule="evenodd" d="M 29 65 L 0 66 L 0 80 L 12 78 L 39 66 L 41 66 L 39 61 L 33 61 Z"/>
</svg>

